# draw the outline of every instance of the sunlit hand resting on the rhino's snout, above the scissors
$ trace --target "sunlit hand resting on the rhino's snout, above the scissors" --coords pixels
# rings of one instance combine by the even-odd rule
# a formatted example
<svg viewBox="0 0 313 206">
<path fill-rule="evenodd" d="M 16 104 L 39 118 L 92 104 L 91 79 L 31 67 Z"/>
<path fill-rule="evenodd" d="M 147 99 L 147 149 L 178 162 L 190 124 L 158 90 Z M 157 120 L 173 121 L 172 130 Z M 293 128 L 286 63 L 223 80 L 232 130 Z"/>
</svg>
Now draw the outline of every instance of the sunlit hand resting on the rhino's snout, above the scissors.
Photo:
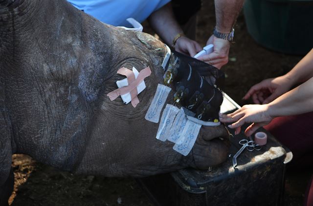
<svg viewBox="0 0 313 206">
<path fill-rule="evenodd" d="M 233 123 L 229 128 L 235 129 L 235 134 L 239 134 L 241 126 L 245 123 L 252 123 L 246 128 L 246 136 L 250 136 L 261 126 L 269 124 L 273 117 L 268 114 L 267 104 L 250 104 L 236 110 L 231 114 L 220 114 L 220 121 L 223 123 Z"/>
</svg>

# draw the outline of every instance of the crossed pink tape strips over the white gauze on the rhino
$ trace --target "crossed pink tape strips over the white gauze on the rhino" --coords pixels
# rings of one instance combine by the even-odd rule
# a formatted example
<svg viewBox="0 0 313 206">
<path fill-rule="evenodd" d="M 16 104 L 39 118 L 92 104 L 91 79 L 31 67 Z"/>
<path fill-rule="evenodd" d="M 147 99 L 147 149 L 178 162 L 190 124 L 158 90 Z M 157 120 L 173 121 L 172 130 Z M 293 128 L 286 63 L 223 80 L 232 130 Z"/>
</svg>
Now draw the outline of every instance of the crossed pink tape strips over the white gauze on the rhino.
<svg viewBox="0 0 313 206">
<path fill-rule="evenodd" d="M 137 86 L 144 81 L 146 77 L 149 77 L 151 75 L 151 69 L 150 67 L 146 67 L 142 69 L 138 76 L 137 79 L 135 79 L 134 72 L 131 71 L 130 69 L 127 69 L 125 67 L 120 68 L 117 72 L 117 74 L 121 74 L 127 77 L 128 81 L 128 86 L 123 86 L 121 88 L 115 89 L 112 92 L 110 92 L 108 97 L 110 98 L 111 101 L 115 100 L 118 96 L 124 95 L 127 93 L 131 93 L 131 98 L 132 98 L 132 105 L 134 107 L 137 106 L 139 103 L 139 99 L 137 97 Z"/>
</svg>

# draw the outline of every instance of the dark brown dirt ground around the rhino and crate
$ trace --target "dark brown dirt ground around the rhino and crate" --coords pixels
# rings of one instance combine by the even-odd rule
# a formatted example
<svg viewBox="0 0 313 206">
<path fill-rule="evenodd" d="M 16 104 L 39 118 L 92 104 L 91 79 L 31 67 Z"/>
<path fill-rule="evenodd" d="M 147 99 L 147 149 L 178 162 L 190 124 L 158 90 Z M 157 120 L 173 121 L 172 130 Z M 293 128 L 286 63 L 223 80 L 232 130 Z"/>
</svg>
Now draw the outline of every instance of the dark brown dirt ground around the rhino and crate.
<svg viewBox="0 0 313 206">
<path fill-rule="evenodd" d="M 215 26 L 213 0 L 203 2 L 198 16 L 197 41 L 204 45 Z M 147 30 L 149 31 L 149 29 Z M 302 57 L 269 51 L 248 35 L 243 14 L 235 26 L 224 91 L 240 105 L 253 84 L 282 75 Z M 131 178 L 105 178 L 73 175 L 36 163 L 26 155 L 14 155 L 15 191 L 12 206 L 151 206 L 140 187 Z M 288 172 L 285 205 L 303 205 L 306 184 L 312 170 Z"/>
</svg>

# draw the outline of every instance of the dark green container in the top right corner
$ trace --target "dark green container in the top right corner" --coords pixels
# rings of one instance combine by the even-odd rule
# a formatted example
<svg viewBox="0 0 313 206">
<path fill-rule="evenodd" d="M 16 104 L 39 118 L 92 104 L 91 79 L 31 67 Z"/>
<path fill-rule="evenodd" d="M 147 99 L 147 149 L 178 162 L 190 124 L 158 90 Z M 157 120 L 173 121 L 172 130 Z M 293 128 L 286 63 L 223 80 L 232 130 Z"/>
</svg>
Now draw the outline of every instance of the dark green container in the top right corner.
<svg viewBox="0 0 313 206">
<path fill-rule="evenodd" d="M 313 48 L 313 0 L 246 0 L 252 38 L 268 49 L 304 55 Z"/>
</svg>

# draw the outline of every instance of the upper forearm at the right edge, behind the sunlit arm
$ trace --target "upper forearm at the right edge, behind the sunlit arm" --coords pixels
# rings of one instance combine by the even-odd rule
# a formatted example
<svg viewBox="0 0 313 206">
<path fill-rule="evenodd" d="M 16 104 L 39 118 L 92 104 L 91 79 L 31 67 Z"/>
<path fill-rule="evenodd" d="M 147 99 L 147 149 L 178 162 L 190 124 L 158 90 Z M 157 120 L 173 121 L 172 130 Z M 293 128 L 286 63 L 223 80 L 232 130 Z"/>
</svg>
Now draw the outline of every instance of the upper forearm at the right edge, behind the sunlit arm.
<svg viewBox="0 0 313 206">
<path fill-rule="evenodd" d="M 313 49 L 284 77 L 293 84 L 305 82 L 313 77 Z"/>
</svg>

